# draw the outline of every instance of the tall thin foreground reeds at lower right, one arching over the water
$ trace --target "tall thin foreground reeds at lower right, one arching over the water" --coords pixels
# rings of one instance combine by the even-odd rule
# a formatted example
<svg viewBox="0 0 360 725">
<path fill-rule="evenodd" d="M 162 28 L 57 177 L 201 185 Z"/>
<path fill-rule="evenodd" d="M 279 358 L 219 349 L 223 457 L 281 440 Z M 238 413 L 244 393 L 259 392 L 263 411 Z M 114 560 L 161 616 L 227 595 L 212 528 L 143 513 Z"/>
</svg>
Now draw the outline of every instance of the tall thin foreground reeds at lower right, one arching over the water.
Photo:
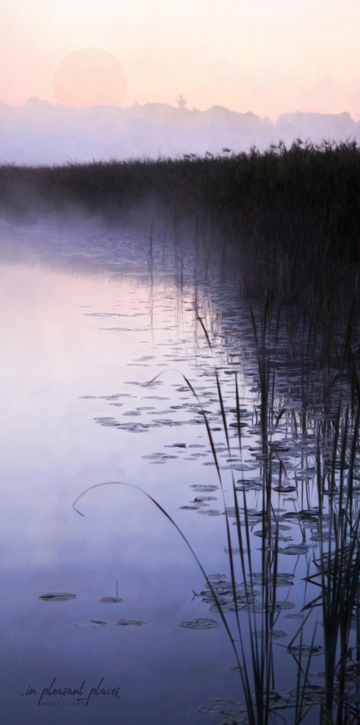
<svg viewBox="0 0 360 725">
<path fill-rule="evenodd" d="M 360 512 L 354 511 L 354 481 L 356 481 L 356 463 L 359 463 L 359 421 L 360 421 L 360 390 L 353 364 L 353 352 L 348 335 L 348 341 L 343 344 L 343 357 L 336 349 L 335 358 L 339 365 L 339 379 L 341 382 L 337 407 L 330 410 L 324 422 L 311 421 L 311 405 L 303 406 L 300 412 L 300 427 L 293 410 L 279 407 L 276 401 L 276 363 L 277 342 L 279 339 L 280 316 L 279 307 L 274 304 L 274 297 L 270 291 L 266 297 L 261 324 L 255 319 L 255 313 L 250 310 L 253 323 L 253 332 L 258 357 L 258 386 L 260 399 L 259 432 L 261 436 L 261 572 L 254 572 L 254 563 L 251 555 L 251 527 L 250 514 L 247 505 L 247 489 L 245 481 L 234 480 L 232 468 L 232 497 L 234 502 L 235 526 L 234 534 L 230 531 L 229 513 L 226 504 L 224 485 L 221 476 L 221 466 L 218 462 L 216 444 L 208 422 L 208 417 L 197 392 L 189 379 L 182 376 L 185 384 L 197 399 L 203 413 L 205 427 L 216 465 L 218 481 L 224 501 L 224 514 L 226 526 L 226 551 L 229 554 L 229 571 L 232 589 L 233 612 L 235 622 L 229 622 L 226 605 L 218 595 L 218 587 L 207 574 L 197 558 L 195 551 L 184 536 L 179 526 L 150 494 L 145 495 L 163 513 L 178 531 L 187 544 L 197 565 L 205 577 L 216 610 L 224 624 L 226 634 L 232 645 L 237 669 L 240 674 L 241 691 L 245 697 L 246 718 L 244 713 L 238 716 L 232 713 L 232 724 L 245 723 L 248 725 L 269 725 L 277 718 L 287 725 L 300 725 L 315 722 L 323 725 L 356 725 L 359 722 L 360 706 L 360 618 L 359 618 L 359 576 L 360 576 Z M 240 460 L 242 459 L 242 413 L 241 397 L 234 376 L 234 397 L 236 401 L 236 425 L 232 427 L 230 437 L 229 423 L 227 421 L 224 397 L 221 382 L 216 368 L 216 357 L 210 340 L 210 335 L 203 319 L 197 313 L 197 323 L 205 336 L 208 347 L 213 354 L 216 375 L 216 388 L 218 402 L 221 409 L 221 420 L 224 429 L 229 458 L 232 457 L 234 445 L 238 447 Z M 348 334 L 348 333 L 347 333 Z M 337 347 L 335 336 L 332 344 Z M 308 343 L 306 343 L 308 347 Z M 306 360 L 303 361 L 301 375 L 303 381 L 301 389 L 306 389 L 308 370 Z M 345 384 L 343 370 L 348 367 L 348 382 Z M 162 373 L 159 373 L 161 375 Z M 159 376 L 156 376 L 158 378 Z M 153 378 L 152 383 L 156 378 Z M 353 394 L 355 392 L 355 395 Z M 278 406 L 278 407 L 277 407 Z M 296 666 L 295 687 L 290 692 L 280 695 L 277 692 L 277 662 L 279 651 L 276 642 L 277 621 L 280 608 L 277 602 L 277 582 L 284 575 L 279 574 L 279 513 L 274 508 L 274 471 L 273 462 L 279 462 L 279 491 L 287 490 L 288 481 L 286 466 L 282 463 L 281 449 L 274 440 L 281 421 L 287 418 L 292 425 L 292 436 L 298 440 L 306 436 L 309 429 L 317 440 L 316 448 L 316 486 L 311 492 L 306 484 L 306 502 L 310 507 L 311 495 L 317 496 L 317 521 L 319 526 L 319 555 L 308 558 L 307 576 L 305 578 L 305 593 L 303 613 L 304 618 L 292 637 L 289 645 L 285 645 L 287 653 L 292 655 Z M 329 450 L 331 439 L 331 455 L 324 455 Z M 235 440 L 235 443 L 234 443 Z M 243 480 L 243 479 L 242 479 Z M 275 481 L 277 483 L 277 481 Z M 104 485 L 128 485 L 97 484 Z M 91 486 L 96 488 L 97 486 Z M 135 489 L 141 491 L 137 486 Z M 90 489 L 87 489 L 88 491 Z M 86 491 L 87 492 L 87 491 Z M 81 513 L 77 506 L 81 496 L 74 502 L 74 508 Z M 144 494 L 144 492 L 142 491 Z M 314 506 L 311 509 L 314 511 Z M 301 511 L 298 513 L 298 524 L 305 537 L 302 526 Z M 308 512 L 304 512 L 305 514 Z M 82 515 L 82 514 L 81 514 Z M 235 537 L 235 542 L 234 542 Z M 235 566 L 234 549 L 240 552 L 240 573 L 243 579 L 242 586 L 245 593 L 239 596 L 237 588 L 237 573 L 239 566 Z M 295 567 L 296 568 L 296 567 Z M 292 575 L 289 575 L 290 577 Z M 316 586 L 319 594 L 308 598 L 311 587 Z M 258 589 L 261 596 L 258 599 Z M 318 625 L 319 609 L 322 610 L 322 628 Z M 312 624 L 311 624 L 312 622 Z M 246 624 L 245 624 L 246 623 Z M 352 633 L 356 628 L 355 644 Z M 309 626 L 312 627 L 311 641 L 308 642 Z M 311 630 L 310 630 L 311 631 Z M 322 634 L 321 634 L 322 631 Z M 323 645 L 318 645 L 319 638 Z M 281 646 L 281 645 L 280 645 Z M 323 650 L 322 650 L 323 647 Z M 312 685 L 310 670 L 314 655 L 324 652 L 324 686 Z M 226 713 L 224 713 L 226 714 Z M 310 720 L 308 719 L 310 718 Z"/>
</svg>

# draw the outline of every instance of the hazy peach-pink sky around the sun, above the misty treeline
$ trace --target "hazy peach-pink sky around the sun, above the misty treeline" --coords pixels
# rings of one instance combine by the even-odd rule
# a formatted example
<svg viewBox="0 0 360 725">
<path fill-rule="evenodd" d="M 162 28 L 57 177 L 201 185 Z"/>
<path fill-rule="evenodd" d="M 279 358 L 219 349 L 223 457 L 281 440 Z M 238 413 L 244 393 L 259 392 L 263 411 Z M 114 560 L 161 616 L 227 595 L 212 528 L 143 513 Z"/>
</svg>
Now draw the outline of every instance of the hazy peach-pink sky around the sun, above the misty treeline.
<svg viewBox="0 0 360 725">
<path fill-rule="evenodd" d="M 110 51 L 130 106 L 360 117 L 359 0 L 0 0 L 0 99 L 56 102 L 54 72 L 78 49 Z"/>
</svg>

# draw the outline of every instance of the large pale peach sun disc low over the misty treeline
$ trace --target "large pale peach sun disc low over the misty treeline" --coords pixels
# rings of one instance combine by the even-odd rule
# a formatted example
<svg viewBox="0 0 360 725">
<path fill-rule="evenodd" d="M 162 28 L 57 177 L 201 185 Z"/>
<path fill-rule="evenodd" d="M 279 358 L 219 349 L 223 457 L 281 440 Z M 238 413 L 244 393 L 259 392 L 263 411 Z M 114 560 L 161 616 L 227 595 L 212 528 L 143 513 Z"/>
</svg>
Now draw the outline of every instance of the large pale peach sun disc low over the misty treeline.
<svg viewBox="0 0 360 725">
<path fill-rule="evenodd" d="M 126 94 L 126 73 L 113 54 L 86 48 L 62 60 L 54 88 L 64 106 L 120 106 Z"/>
</svg>

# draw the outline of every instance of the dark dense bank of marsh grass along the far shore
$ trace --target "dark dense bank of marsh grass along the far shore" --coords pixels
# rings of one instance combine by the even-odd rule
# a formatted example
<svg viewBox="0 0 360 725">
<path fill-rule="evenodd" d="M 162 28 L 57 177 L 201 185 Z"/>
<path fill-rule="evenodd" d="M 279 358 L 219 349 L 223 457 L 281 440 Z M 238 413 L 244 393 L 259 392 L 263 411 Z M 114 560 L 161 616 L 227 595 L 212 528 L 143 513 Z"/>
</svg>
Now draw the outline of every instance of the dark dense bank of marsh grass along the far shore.
<svg viewBox="0 0 360 725">
<path fill-rule="evenodd" d="M 121 218 L 149 202 L 168 215 L 181 255 L 196 236 L 202 264 L 238 268 L 242 294 L 316 312 L 339 308 L 359 258 L 360 149 L 300 140 L 266 152 L 130 159 L 54 167 L 0 167 L 0 208 L 10 214 L 66 210 Z M 157 206 L 158 205 L 158 206 Z M 290 338 L 298 321 L 289 319 Z"/>
</svg>

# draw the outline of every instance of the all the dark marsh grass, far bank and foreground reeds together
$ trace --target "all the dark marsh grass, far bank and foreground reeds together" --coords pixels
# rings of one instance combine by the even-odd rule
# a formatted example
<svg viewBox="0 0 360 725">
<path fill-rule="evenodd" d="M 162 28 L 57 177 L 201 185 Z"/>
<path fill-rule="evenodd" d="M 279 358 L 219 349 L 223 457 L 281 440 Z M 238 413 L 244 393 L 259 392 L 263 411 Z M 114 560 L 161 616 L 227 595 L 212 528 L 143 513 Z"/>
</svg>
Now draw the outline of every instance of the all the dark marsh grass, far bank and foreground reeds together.
<svg viewBox="0 0 360 725">
<path fill-rule="evenodd" d="M 194 232 L 195 273 L 203 267 L 207 274 L 215 258 L 220 260 L 224 274 L 226 265 L 235 270 L 232 281 L 236 281 L 240 296 L 250 300 L 256 359 L 253 379 L 259 393 L 255 426 L 258 423 L 261 442 L 261 572 L 254 571 L 251 555 L 252 522 L 245 481 L 235 482 L 232 468 L 235 526 L 231 529 L 208 417 L 194 387 L 183 376 L 203 411 L 224 501 L 232 624 L 216 585 L 208 579 L 191 544 L 173 518 L 146 495 L 171 521 L 205 576 L 239 669 L 247 723 L 269 725 L 279 718 L 287 725 L 356 725 L 360 718 L 360 513 L 354 496 L 360 418 L 358 146 L 323 144 L 316 148 L 298 143 L 290 150 L 280 145 L 266 154 L 253 149 L 250 154 L 230 158 L 114 162 L 47 170 L 3 167 L 0 178 L 1 174 L 6 181 L 3 204 L 4 188 L 14 186 L 16 180 L 28 183 L 33 179 L 49 205 L 61 207 L 75 199 L 85 206 L 106 207 L 111 213 L 153 194 L 173 214 L 179 286 L 183 283 L 187 225 Z M 210 228 L 211 233 L 202 235 L 202 228 Z M 152 270 L 153 228 L 149 265 Z M 229 276 L 229 271 L 226 274 Z M 216 355 L 199 313 L 197 323 L 213 354 L 227 452 L 231 458 L 236 445 L 242 460 L 242 401 L 237 375 L 236 423 L 231 428 L 234 443 Z M 298 410 L 291 400 L 277 393 L 280 348 L 282 363 L 286 349 L 286 364 L 298 376 Z M 319 406 L 321 416 L 316 415 Z M 280 611 L 277 583 L 282 575 L 274 483 L 279 500 L 282 491 L 289 488 L 278 444 L 285 423 L 298 444 L 308 436 L 317 442 L 316 483 L 296 482 L 298 488 L 301 485 L 303 508 L 295 513 L 306 542 L 302 516 L 314 518 L 316 507 L 319 554 L 308 556 L 304 618 L 286 647 L 295 662 L 295 688 L 280 695 L 275 626 Z M 240 565 L 235 563 L 234 549 L 240 552 Z M 245 589 L 242 597 L 237 592 L 239 569 Z M 314 597 L 312 587 L 317 587 Z M 260 600 L 255 595 L 257 589 L 261 589 Z M 320 611 L 322 627 L 317 622 Z M 321 650 L 319 639 L 324 651 L 323 687 L 310 682 L 313 657 Z M 232 723 L 244 722 L 240 714 L 232 718 Z"/>
</svg>

